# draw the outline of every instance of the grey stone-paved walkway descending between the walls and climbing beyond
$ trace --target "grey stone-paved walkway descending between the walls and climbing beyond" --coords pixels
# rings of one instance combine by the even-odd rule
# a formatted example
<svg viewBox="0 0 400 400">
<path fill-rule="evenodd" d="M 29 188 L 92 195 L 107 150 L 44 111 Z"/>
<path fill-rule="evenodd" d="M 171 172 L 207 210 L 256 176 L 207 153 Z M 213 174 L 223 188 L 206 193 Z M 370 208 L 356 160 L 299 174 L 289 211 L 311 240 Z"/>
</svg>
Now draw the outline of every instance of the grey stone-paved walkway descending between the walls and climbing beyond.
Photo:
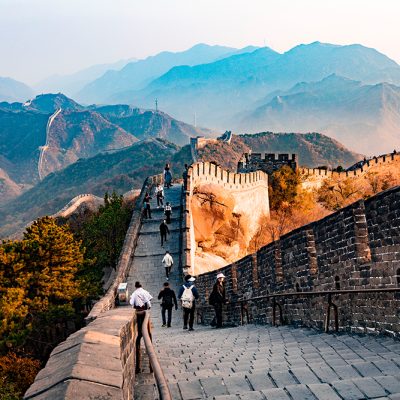
<svg viewBox="0 0 400 400">
<path fill-rule="evenodd" d="M 167 190 L 166 200 L 178 206 L 180 190 Z M 176 290 L 181 284 L 178 209 L 164 248 L 158 231 L 162 216 L 156 209 L 153 219 L 144 222 L 129 276 L 131 291 L 140 280 L 155 298 L 165 281 L 161 259 L 166 249 L 176 261 L 171 286 Z M 254 325 L 218 330 L 195 326 L 188 332 L 182 329 L 181 310 L 173 313 L 172 328 L 161 328 L 156 299 L 152 321 L 173 399 L 400 400 L 400 343 L 390 338 Z M 142 375 L 137 398 L 157 398 L 154 381 Z"/>
</svg>

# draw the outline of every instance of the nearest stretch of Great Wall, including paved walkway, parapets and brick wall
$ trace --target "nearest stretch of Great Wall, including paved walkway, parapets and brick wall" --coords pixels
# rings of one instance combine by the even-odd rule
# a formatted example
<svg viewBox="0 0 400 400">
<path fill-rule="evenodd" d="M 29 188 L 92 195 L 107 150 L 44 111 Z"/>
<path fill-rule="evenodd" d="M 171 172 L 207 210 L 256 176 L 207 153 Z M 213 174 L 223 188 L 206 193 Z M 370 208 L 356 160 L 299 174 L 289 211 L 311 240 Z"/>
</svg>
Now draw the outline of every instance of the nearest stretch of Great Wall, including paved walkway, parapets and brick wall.
<svg viewBox="0 0 400 400">
<path fill-rule="evenodd" d="M 182 190 L 175 185 L 168 194 L 176 218 L 170 246 L 179 260 L 171 280 L 174 288 L 183 271 L 196 273 L 190 207 L 195 187 L 207 182 L 232 192 L 256 192 L 267 179 L 262 172 L 232 174 L 212 163 L 188 169 Z M 129 307 L 116 307 L 115 298 L 120 282 L 128 281 L 131 292 L 134 280 L 140 279 L 155 297 L 164 280 L 157 264 L 162 253 L 149 239 L 157 239 L 157 232 L 141 212 L 144 192 L 160 180 L 155 176 L 144 182 L 113 285 L 92 309 L 87 326 L 54 349 L 26 399 L 159 398 L 151 374 L 145 375 L 147 382 L 142 374 L 135 376 L 135 315 Z M 224 318 L 231 328 L 211 331 L 197 325 L 188 334 L 177 314 L 179 326 L 165 332 L 159 327 L 157 303 L 153 305 L 153 337 L 169 398 L 398 398 L 400 344 L 384 335 L 400 336 L 400 187 L 197 276 L 198 317 L 205 324 L 213 315 L 207 299 L 218 272 L 226 275 L 229 304 Z M 346 335 L 321 333 L 336 328 Z"/>
</svg>

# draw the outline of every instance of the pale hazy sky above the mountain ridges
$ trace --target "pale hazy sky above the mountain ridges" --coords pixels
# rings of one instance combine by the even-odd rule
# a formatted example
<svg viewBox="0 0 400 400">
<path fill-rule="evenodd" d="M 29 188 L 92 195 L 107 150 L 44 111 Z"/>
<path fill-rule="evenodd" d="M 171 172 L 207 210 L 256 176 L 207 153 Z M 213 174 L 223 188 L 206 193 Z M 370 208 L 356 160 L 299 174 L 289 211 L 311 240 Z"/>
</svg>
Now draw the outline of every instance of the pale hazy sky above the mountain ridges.
<svg viewBox="0 0 400 400">
<path fill-rule="evenodd" d="M 361 43 L 400 63 L 400 0 L 0 0 L 0 76 L 33 84 L 196 43 Z"/>
</svg>

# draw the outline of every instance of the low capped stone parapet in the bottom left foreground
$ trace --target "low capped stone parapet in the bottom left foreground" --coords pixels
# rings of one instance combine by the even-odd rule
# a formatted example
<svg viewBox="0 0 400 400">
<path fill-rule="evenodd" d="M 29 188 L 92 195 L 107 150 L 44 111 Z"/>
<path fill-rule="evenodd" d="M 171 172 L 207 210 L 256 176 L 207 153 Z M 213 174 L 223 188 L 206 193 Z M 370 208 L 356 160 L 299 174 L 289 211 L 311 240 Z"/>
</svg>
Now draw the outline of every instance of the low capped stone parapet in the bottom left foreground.
<svg viewBox="0 0 400 400">
<path fill-rule="evenodd" d="M 133 399 L 136 334 L 130 307 L 101 314 L 53 350 L 24 399 Z"/>
</svg>

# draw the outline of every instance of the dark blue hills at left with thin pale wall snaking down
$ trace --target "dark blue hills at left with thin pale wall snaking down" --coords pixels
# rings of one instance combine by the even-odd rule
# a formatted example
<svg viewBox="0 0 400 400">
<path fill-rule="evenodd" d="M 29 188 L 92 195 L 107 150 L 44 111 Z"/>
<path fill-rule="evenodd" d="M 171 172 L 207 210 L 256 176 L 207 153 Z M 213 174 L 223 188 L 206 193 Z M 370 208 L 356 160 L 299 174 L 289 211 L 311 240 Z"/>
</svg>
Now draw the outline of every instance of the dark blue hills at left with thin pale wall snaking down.
<svg viewBox="0 0 400 400">
<path fill-rule="evenodd" d="M 139 140 L 163 138 L 185 145 L 190 137 L 210 134 L 163 112 L 127 105 L 83 107 L 62 94 L 40 95 L 26 103 L 0 103 L 0 169 L 7 182 L 26 187 L 80 158 Z M 0 203 L 6 200 L 2 196 Z"/>
</svg>

